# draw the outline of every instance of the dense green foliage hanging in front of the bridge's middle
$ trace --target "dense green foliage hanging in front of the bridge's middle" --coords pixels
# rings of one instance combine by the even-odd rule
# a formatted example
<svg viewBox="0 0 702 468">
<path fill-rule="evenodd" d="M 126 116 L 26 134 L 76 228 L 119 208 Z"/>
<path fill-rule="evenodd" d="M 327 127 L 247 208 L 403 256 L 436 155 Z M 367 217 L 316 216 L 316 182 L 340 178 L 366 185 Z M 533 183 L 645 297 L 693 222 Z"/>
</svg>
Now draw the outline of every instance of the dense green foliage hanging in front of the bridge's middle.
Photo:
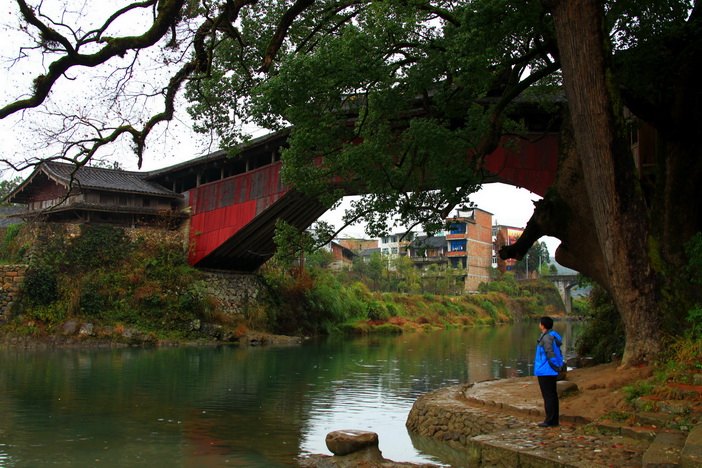
<svg viewBox="0 0 702 468">
<path fill-rule="evenodd" d="M 213 79 L 188 90 L 196 126 L 214 129 L 229 147 L 241 138 L 233 120 L 276 130 L 292 126 L 283 153 L 286 183 L 331 206 L 342 193 L 332 181 L 362 181 L 369 195 L 348 219 L 360 216 L 379 232 L 395 211 L 406 224 L 421 221 L 425 231 L 436 231 L 441 212 L 464 202 L 479 184 L 465 151 L 479 152 L 489 140 L 491 106 L 476 100 L 492 96 L 497 77 L 507 66 L 512 70 L 513 57 L 533 38 L 551 35 L 548 19 L 531 4 L 445 4 L 437 7 L 446 14 L 442 20 L 433 7 L 395 1 L 337 7 L 315 4 L 304 20 L 294 21 L 274 73 L 265 75 L 254 72 L 260 68 L 255 57 L 268 48 L 283 8 L 263 2 L 243 9 L 238 33 L 249 49 L 224 39 Z M 527 62 L 518 69 L 537 73 L 547 66 Z M 512 81 L 505 84 L 518 84 Z M 418 96 L 431 96 L 432 111 L 398 125 L 417 108 Z M 335 125 L 354 112 L 354 126 Z M 521 130 L 507 115 L 499 122 Z M 354 142 L 339 143 L 344 140 Z M 311 163 L 318 155 L 324 164 Z"/>
</svg>

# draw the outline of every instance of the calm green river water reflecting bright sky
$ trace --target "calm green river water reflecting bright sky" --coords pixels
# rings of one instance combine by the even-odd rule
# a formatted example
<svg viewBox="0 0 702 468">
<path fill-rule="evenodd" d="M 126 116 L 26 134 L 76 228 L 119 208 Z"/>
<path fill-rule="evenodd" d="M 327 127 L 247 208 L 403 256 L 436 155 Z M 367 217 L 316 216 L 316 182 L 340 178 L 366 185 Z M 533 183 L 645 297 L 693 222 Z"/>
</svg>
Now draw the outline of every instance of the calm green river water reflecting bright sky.
<svg viewBox="0 0 702 468">
<path fill-rule="evenodd" d="M 554 327 L 572 341 L 570 324 Z M 0 466 L 283 467 L 369 429 L 383 456 L 459 466 L 410 437 L 431 390 L 529 375 L 535 323 L 293 347 L 0 350 Z M 569 343 L 566 343 L 566 345 Z"/>
</svg>

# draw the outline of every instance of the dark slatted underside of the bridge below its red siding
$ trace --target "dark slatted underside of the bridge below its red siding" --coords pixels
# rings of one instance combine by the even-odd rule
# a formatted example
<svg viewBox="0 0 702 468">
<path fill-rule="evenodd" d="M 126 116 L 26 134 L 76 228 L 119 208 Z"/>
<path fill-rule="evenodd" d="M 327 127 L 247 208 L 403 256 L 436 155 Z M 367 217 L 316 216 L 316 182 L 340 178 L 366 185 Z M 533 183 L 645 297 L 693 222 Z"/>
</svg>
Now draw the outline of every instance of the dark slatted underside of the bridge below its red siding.
<svg viewBox="0 0 702 468">
<path fill-rule="evenodd" d="M 273 236 L 278 219 L 303 230 L 325 211 L 326 208 L 316 198 L 290 190 L 195 266 L 203 269 L 255 271 L 275 253 Z"/>
</svg>

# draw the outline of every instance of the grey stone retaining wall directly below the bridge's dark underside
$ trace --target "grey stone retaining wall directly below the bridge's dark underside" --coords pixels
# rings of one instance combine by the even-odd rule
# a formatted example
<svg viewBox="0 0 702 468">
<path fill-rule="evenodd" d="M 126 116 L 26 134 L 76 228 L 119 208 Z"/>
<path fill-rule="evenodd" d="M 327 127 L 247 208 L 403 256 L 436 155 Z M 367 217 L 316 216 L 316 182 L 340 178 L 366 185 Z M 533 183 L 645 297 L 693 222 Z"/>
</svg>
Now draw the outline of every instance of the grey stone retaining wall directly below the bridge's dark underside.
<svg viewBox="0 0 702 468">
<path fill-rule="evenodd" d="M 203 271 L 207 292 L 217 301 L 217 308 L 226 319 L 243 318 L 244 308 L 255 300 L 261 284 L 253 275 L 224 271 Z"/>
</svg>

